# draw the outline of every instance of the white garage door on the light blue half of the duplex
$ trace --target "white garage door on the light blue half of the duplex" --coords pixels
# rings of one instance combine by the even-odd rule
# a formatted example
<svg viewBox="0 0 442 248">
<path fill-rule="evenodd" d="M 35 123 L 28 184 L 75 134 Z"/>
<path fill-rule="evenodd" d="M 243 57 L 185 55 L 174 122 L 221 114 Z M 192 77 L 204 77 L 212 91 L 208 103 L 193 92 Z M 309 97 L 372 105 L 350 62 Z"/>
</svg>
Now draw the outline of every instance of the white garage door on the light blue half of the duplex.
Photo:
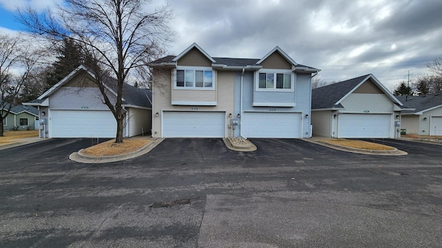
<svg viewBox="0 0 442 248">
<path fill-rule="evenodd" d="M 301 114 L 244 112 L 242 134 L 247 138 L 300 138 Z"/>
</svg>

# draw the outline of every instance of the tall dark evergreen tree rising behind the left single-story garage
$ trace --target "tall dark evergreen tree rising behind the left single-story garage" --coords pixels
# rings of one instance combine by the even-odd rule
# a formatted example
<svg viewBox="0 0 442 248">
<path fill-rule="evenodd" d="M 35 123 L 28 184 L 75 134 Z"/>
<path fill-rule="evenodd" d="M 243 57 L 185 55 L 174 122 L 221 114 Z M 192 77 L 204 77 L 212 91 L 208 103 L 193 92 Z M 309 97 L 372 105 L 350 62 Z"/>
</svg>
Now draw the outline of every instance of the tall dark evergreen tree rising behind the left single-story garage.
<svg viewBox="0 0 442 248">
<path fill-rule="evenodd" d="M 59 48 L 59 53 L 60 56 L 57 56 L 57 61 L 52 64 L 53 68 L 46 76 L 46 90 L 68 76 L 84 61 L 79 45 L 73 39 L 64 39 L 63 45 Z"/>
</svg>

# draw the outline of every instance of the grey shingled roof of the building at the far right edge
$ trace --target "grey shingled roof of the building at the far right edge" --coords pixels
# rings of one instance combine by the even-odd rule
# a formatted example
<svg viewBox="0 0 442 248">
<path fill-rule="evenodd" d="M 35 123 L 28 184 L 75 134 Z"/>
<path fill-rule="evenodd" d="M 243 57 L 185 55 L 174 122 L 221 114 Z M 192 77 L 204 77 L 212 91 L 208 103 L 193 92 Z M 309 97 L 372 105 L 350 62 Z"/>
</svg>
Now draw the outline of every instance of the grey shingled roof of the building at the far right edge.
<svg viewBox="0 0 442 248">
<path fill-rule="evenodd" d="M 442 94 L 434 93 L 423 96 L 396 96 L 407 107 L 414 108 L 414 111 L 405 111 L 404 113 L 423 114 L 423 112 L 434 110 L 436 107 L 442 107 Z"/>
</svg>

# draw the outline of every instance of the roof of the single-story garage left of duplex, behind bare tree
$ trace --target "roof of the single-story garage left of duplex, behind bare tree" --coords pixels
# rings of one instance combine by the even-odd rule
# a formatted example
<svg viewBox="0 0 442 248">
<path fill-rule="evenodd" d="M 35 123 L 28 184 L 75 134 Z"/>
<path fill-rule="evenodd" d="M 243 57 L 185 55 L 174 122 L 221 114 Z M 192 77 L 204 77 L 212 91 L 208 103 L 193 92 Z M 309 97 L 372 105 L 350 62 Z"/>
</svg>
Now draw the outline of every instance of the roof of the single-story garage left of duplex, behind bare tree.
<svg viewBox="0 0 442 248">
<path fill-rule="evenodd" d="M 30 101 L 28 103 L 23 103 L 25 105 L 43 105 L 45 100 L 48 99 L 48 96 L 56 92 L 61 88 L 61 86 L 68 83 L 71 79 L 73 79 L 74 76 L 81 72 L 86 72 L 90 76 L 95 77 L 95 75 L 90 72 L 84 65 L 80 65 L 77 69 L 75 69 L 73 72 L 70 72 L 68 76 L 66 76 L 64 79 L 61 79 L 58 83 L 50 87 L 49 90 L 41 94 L 38 99 Z M 103 82 L 104 86 L 115 96 L 117 96 L 117 79 L 114 79 L 111 76 L 103 76 Z M 133 87 L 132 85 L 128 85 L 127 83 L 124 83 L 123 85 L 123 95 L 122 95 L 122 105 L 131 105 L 131 106 L 139 106 L 139 107 L 152 107 L 152 92 L 148 89 L 138 89 L 136 87 Z"/>
</svg>

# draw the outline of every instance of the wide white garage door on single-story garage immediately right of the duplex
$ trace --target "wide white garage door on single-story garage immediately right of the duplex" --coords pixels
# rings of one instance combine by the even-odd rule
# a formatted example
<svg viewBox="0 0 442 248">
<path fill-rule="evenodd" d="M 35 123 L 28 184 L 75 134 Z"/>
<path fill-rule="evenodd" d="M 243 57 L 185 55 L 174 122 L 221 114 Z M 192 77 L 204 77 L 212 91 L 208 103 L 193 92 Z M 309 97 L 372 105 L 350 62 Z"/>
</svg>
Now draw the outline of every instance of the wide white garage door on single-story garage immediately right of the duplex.
<svg viewBox="0 0 442 248">
<path fill-rule="evenodd" d="M 340 114 L 338 138 L 390 138 L 391 114 Z"/>
</svg>

